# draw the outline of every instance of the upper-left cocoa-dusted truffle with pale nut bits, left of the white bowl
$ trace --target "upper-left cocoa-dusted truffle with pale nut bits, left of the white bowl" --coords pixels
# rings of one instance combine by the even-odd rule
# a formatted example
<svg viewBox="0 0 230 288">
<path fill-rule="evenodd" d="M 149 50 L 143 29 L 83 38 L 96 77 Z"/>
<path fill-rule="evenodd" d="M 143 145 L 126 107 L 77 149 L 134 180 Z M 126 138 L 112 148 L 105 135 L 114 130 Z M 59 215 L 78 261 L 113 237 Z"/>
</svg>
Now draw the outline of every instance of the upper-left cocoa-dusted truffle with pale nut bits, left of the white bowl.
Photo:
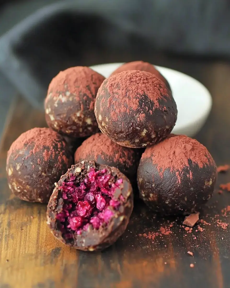
<svg viewBox="0 0 230 288">
<path fill-rule="evenodd" d="M 72 138 L 98 132 L 94 104 L 104 79 L 91 68 L 81 66 L 57 74 L 49 84 L 45 99 L 47 125 Z"/>
</svg>

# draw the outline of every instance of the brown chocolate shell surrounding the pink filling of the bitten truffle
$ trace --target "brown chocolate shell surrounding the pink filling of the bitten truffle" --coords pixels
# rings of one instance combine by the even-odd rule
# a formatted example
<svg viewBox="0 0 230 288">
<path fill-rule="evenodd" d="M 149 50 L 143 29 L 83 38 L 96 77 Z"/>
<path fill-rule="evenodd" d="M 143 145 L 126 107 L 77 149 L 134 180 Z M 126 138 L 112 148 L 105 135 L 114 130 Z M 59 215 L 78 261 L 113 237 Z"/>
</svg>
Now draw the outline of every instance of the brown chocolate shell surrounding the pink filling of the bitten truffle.
<svg viewBox="0 0 230 288">
<path fill-rule="evenodd" d="M 72 175 L 76 176 L 76 180 L 79 182 L 83 181 L 91 167 L 96 170 L 106 168 L 113 176 L 123 179 L 123 183 L 120 188 L 116 190 L 115 194 L 117 198 L 122 194 L 125 199 L 124 203 L 120 205 L 118 211 L 115 211 L 114 216 L 110 219 L 106 227 L 101 226 L 98 230 L 95 230 L 90 225 L 88 231 L 83 231 L 81 235 L 73 234 L 72 239 L 65 239 L 60 231 L 60 221 L 56 219 L 56 215 L 62 212 L 64 203 L 59 187 L 66 178 Z M 84 251 L 102 250 L 116 242 L 124 233 L 132 211 L 133 190 L 128 178 L 114 167 L 100 165 L 94 161 L 82 161 L 76 165 L 72 165 L 67 173 L 58 181 L 47 206 L 47 224 L 52 234 L 68 246 Z"/>
</svg>

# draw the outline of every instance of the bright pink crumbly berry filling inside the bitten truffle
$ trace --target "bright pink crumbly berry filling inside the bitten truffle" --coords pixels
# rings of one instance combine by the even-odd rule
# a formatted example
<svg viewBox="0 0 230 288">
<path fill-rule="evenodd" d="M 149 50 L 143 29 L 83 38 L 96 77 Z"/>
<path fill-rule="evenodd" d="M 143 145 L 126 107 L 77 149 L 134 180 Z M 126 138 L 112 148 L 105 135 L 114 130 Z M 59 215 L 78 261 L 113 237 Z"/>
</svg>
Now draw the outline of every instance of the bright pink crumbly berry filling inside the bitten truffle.
<svg viewBox="0 0 230 288">
<path fill-rule="evenodd" d="M 62 183 L 64 200 L 62 212 L 56 215 L 60 230 L 65 238 L 80 235 L 91 225 L 94 229 L 106 226 L 124 198 L 114 199 L 114 192 L 120 187 L 122 179 L 116 179 L 106 169 L 95 171 L 91 168 L 83 182 L 78 183 L 71 176 Z"/>
</svg>

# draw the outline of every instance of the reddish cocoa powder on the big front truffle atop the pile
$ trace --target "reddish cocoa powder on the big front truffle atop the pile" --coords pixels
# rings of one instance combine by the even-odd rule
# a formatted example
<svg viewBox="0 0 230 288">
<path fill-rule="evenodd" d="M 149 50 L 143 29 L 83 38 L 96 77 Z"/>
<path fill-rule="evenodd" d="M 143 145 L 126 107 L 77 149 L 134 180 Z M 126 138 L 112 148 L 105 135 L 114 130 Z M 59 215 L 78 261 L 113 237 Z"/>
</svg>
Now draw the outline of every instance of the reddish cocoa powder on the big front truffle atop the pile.
<svg viewBox="0 0 230 288">
<path fill-rule="evenodd" d="M 145 71 L 123 71 L 109 77 L 104 83 L 105 85 L 101 85 L 98 93 L 104 94 L 103 90 L 107 89 L 108 107 L 113 107 L 116 111 L 111 115 L 113 120 L 117 120 L 120 113 L 129 114 L 131 110 L 137 111 L 137 109 L 140 115 L 144 115 L 146 110 L 142 110 L 139 104 L 140 97 L 143 95 L 147 95 L 147 101 L 154 103 L 154 108 L 159 107 L 160 99 L 164 98 L 166 101 L 167 97 L 171 97 L 168 95 L 169 91 L 165 84 L 155 75 Z M 139 116 L 139 121 L 142 117 Z"/>
</svg>

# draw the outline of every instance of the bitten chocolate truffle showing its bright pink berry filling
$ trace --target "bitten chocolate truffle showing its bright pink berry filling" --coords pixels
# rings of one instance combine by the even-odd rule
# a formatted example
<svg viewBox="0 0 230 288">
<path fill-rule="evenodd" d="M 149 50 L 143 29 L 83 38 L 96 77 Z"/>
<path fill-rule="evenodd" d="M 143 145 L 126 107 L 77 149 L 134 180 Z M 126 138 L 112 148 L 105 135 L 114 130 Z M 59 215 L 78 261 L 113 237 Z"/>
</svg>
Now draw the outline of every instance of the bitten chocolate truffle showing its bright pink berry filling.
<svg viewBox="0 0 230 288">
<path fill-rule="evenodd" d="M 132 210 L 132 186 L 124 174 L 82 161 L 58 181 L 47 206 L 47 224 L 66 245 L 101 250 L 123 234 Z"/>
</svg>

